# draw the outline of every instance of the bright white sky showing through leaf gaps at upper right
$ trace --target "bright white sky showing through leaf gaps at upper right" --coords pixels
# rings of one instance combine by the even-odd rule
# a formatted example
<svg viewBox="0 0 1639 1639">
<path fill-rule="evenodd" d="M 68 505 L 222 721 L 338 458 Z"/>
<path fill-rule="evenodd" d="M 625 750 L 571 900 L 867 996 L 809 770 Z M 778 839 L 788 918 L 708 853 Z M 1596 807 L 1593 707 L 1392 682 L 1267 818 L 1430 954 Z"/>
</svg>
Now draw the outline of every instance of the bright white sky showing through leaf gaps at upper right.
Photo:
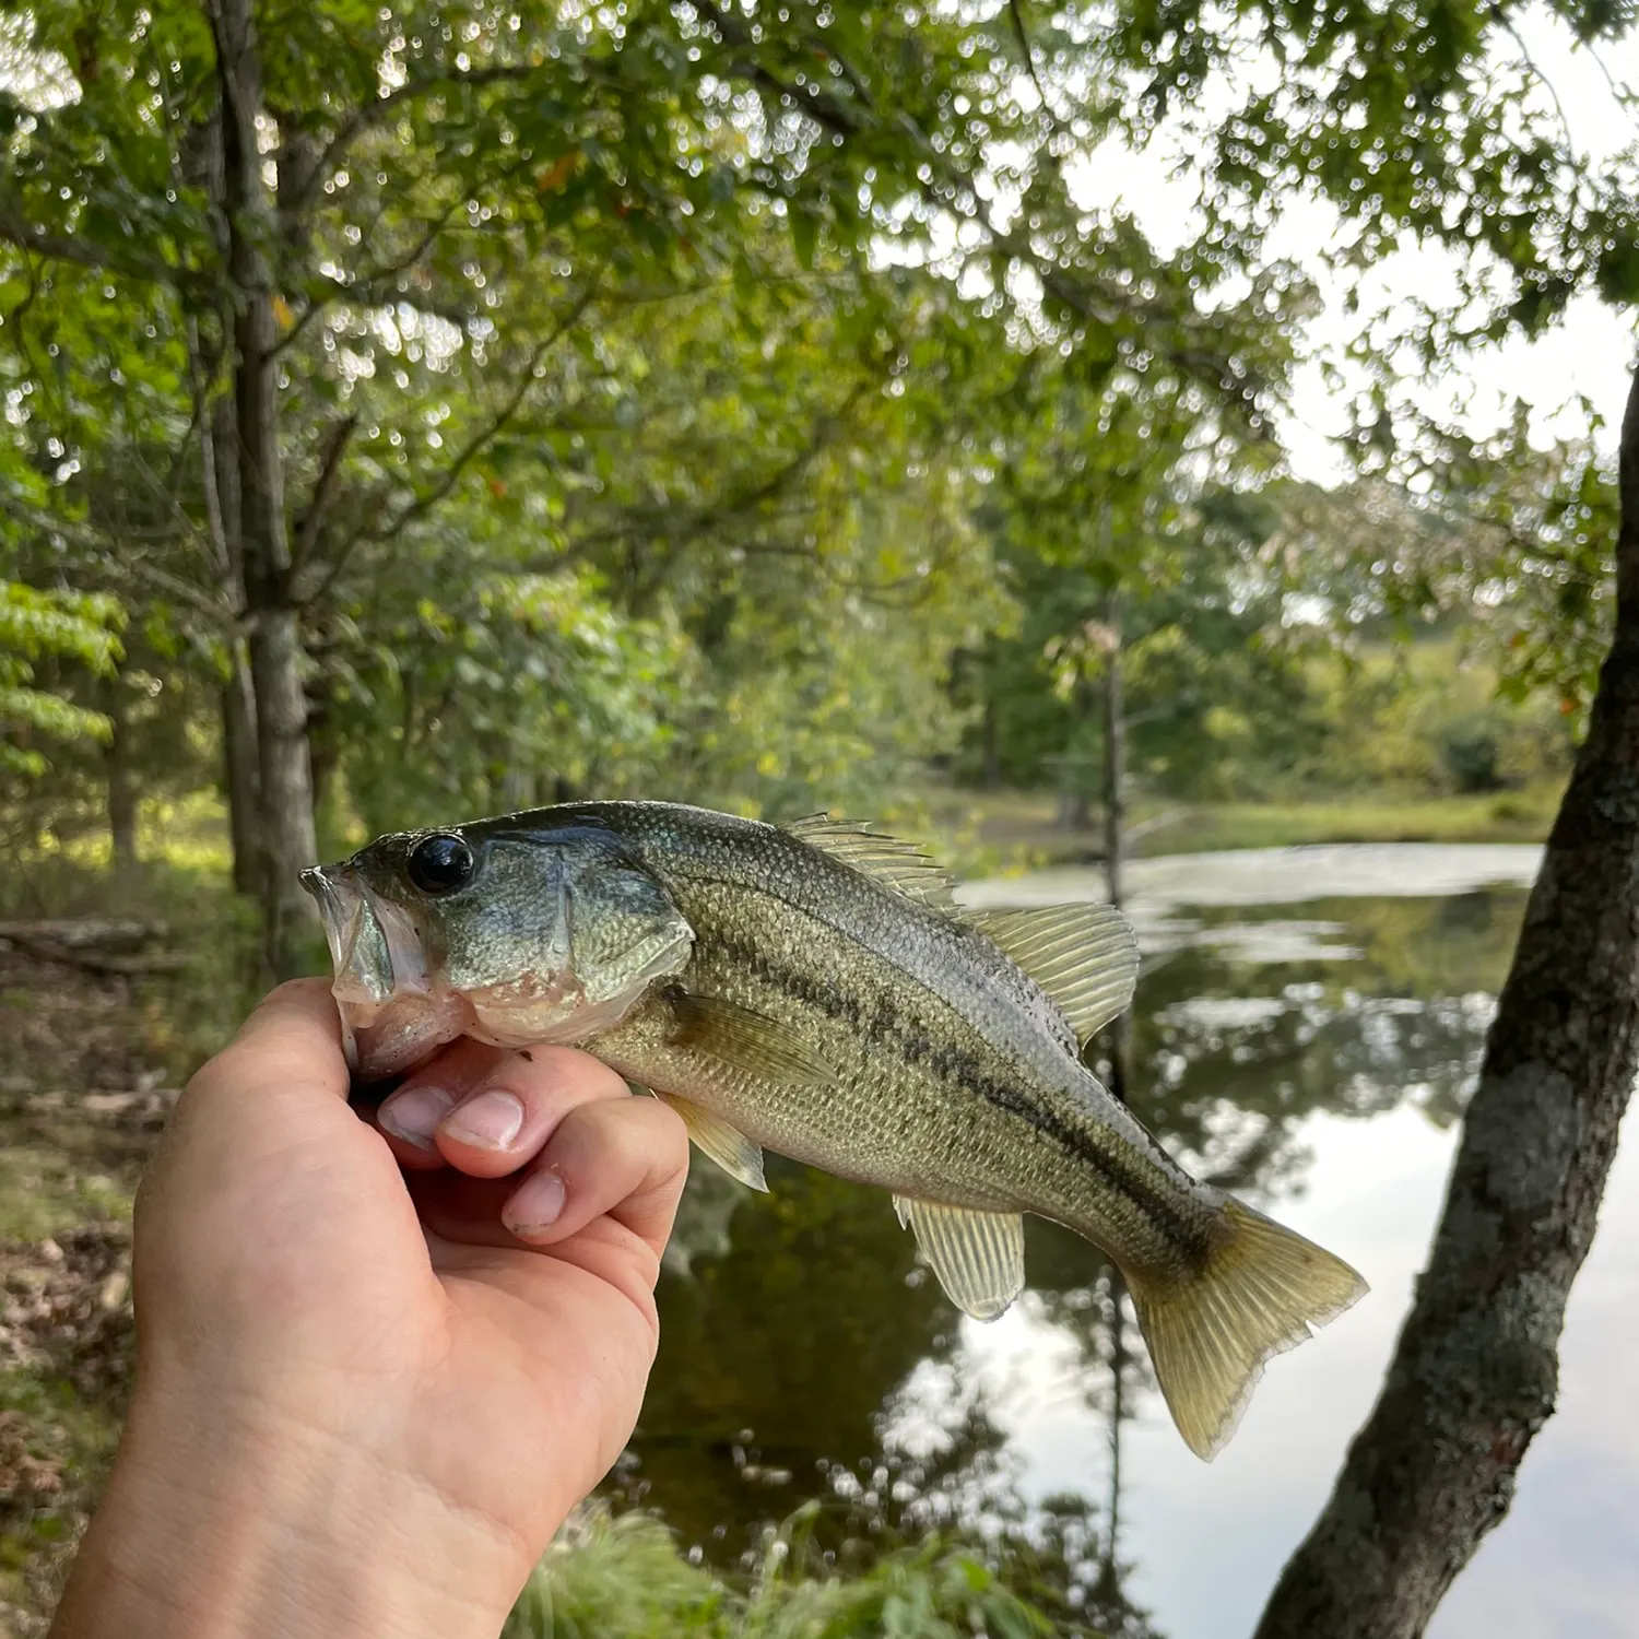
<svg viewBox="0 0 1639 1639">
<path fill-rule="evenodd" d="M 1518 33 L 1557 93 L 1572 141 L 1588 164 L 1598 166 L 1639 139 L 1634 113 L 1621 107 L 1605 75 L 1609 69 L 1619 82 L 1639 85 L 1639 39 L 1601 48 L 1601 69 L 1546 10 L 1524 15 Z M 1552 107 L 1547 90 L 1539 89 L 1536 95 L 1544 107 Z M 1175 154 L 1169 152 L 1165 136 L 1142 154 L 1106 143 L 1080 169 L 1078 203 L 1090 208 L 1124 205 L 1159 249 L 1172 251 L 1190 236 L 1200 198 L 1200 179 L 1177 175 L 1174 166 Z M 1360 325 L 1344 313 L 1342 285 L 1314 254 L 1316 246 L 1334 238 L 1336 228 L 1337 218 L 1329 207 L 1293 202 L 1270 243 L 1272 256 L 1290 257 L 1308 269 L 1326 302 L 1324 311 L 1306 328 L 1310 362 L 1298 372 L 1290 413 L 1280 418 L 1293 470 L 1323 484 L 1346 475 L 1331 439 L 1349 420 L 1347 395 L 1328 385 L 1323 361 L 1341 362 L 1344 346 Z M 1437 297 L 1452 288 L 1454 269 L 1451 252 L 1406 244 L 1367 275 L 1360 287 L 1362 313 L 1413 295 Z M 1623 318 L 1593 297 L 1578 297 L 1564 323 L 1536 343 L 1516 338 L 1483 354 L 1454 359 L 1444 379 L 1421 384 L 1414 397 L 1423 408 L 1452 416 L 1473 434 L 1498 428 L 1503 405 L 1523 397 L 1536 406 L 1532 438 L 1547 443 L 1583 431 L 1578 413 L 1557 413 L 1582 395 L 1606 423 L 1596 434 L 1600 444 L 1614 451 L 1634 364 L 1634 334 L 1632 316 Z M 1355 375 L 1355 380 L 1364 377 Z"/>
</svg>

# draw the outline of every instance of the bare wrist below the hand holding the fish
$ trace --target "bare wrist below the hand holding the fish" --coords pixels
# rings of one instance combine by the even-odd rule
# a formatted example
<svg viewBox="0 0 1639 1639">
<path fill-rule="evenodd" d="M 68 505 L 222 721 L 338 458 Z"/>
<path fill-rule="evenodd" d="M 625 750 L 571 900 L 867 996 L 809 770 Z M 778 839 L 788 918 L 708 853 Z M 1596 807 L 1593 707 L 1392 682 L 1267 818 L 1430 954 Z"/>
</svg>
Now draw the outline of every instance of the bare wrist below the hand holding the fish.
<svg viewBox="0 0 1639 1639">
<path fill-rule="evenodd" d="M 521 1546 L 364 1434 L 139 1392 L 52 1639 L 495 1639 Z"/>
</svg>

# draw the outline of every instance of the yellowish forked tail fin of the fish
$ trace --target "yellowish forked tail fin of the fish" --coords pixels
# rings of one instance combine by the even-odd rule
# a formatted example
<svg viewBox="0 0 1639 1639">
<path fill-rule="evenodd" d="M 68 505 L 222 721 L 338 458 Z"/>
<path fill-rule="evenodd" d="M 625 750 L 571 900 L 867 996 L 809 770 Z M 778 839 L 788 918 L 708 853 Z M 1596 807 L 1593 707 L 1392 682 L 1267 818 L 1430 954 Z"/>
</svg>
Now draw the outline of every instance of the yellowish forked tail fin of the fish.
<svg viewBox="0 0 1639 1639">
<path fill-rule="evenodd" d="M 1342 1259 L 1241 1201 L 1224 1201 L 1223 1229 L 1200 1274 L 1128 1277 L 1167 1410 L 1206 1462 L 1234 1434 L 1264 1362 L 1367 1290 Z"/>
</svg>

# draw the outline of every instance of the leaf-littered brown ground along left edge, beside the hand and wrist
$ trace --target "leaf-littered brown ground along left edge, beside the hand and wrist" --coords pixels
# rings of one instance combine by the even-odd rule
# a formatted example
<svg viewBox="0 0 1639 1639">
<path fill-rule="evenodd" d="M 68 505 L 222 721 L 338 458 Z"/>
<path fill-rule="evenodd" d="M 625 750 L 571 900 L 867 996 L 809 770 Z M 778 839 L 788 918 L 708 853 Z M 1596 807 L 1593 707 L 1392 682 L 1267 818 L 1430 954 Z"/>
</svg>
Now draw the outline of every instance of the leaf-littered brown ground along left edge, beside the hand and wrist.
<svg viewBox="0 0 1639 1639">
<path fill-rule="evenodd" d="M 0 1639 L 44 1632 L 118 1436 L 167 1016 L 151 980 L 0 942 Z"/>
</svg>

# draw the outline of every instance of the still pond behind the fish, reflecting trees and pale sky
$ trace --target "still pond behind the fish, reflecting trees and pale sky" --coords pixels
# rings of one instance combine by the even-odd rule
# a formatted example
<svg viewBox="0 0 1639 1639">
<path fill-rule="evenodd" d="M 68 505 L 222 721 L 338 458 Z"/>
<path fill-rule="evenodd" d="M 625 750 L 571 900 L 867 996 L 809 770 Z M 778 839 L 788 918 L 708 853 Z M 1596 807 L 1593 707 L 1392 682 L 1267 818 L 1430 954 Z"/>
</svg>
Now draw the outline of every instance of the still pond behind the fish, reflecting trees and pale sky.
<svg viewBox="0 0 1639 1639">
<path fill-rule="evenodd" d="M 1354 1262 L 1355 1310 L 1275 1360 L 1231 1446 L 1174 1432 L 1100 1255 L 1029 1219 L 1029 1290 L 959 1316 L 885 1196 L 770 1157 L 695 1167 L 624 1495 L 734 1562 L 821 1500 L 821 1546 L 959 1518 L 1037 1546 L 1111 1631 L 1241 1639 L 1369 1411 L 1426 1255 L 1532 847 L 1139 860 L 1131 1100 L 1196 1172 Z M 964 888 L 1098 898 L 1096 872 Z M 1570 1305 L 1560 1411 L 1434 1639 L 1598 1639 L 1639 1611 L 1639 1146 Z"/>
</svg>

